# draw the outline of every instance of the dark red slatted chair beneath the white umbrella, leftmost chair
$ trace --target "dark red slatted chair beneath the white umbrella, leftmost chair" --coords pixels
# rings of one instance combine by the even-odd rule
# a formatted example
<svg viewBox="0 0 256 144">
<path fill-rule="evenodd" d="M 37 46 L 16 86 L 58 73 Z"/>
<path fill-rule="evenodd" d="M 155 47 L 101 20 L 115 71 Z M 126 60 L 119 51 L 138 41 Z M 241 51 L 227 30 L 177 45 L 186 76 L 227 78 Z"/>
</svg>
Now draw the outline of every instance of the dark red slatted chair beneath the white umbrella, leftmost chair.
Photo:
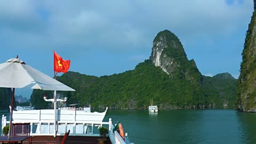
<svg viewBox="0 0 256 144">
<path fill-rule="evenodd" d="M 12 136 L 30 136 L 29 123 L 13 123 Z M 29 138 L 29 144 L 32 144 L 32 137 Z"/>
</svg>

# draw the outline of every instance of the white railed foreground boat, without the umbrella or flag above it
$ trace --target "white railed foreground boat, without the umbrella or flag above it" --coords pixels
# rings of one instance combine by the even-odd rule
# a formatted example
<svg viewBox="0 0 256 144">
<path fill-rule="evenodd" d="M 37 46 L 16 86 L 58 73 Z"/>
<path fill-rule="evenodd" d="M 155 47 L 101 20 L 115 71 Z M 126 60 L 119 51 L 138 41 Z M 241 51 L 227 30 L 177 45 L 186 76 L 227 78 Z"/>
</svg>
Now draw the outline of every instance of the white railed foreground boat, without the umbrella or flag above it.
<svg viewBox="0 0 256 144">
<path fill-rule="evenodd" d="M 57 133 L 54 132 L 54 109 L 33 109 L 13 111 L 12 123 L 29 123 L 30 136 L 33 136 L 32 144 L 45 144 L 46 142 L 60 143 L 64 134 L 70 130 L 67 144 L 91 143 L 98 144 L 100 127 L 106 127 L 108 131 L 107 144 L 133 144 L 128 139 L 128 134 L 121 137 L 117 131 L 113 131 L 115 125 L 112 119 L 103 122 L 107 113 L 91 112 L 91 107 L 78 107 L 78 104 L 71 104 L 69 107 L 61 107 L 56 110 Z M 2 116 L 3 127 L 10 123 L 6 116 Z M 54 137 L 54 134 L 56 135 Z M 27 144 L 28 141 L 23 141 Z"/>
</svg>

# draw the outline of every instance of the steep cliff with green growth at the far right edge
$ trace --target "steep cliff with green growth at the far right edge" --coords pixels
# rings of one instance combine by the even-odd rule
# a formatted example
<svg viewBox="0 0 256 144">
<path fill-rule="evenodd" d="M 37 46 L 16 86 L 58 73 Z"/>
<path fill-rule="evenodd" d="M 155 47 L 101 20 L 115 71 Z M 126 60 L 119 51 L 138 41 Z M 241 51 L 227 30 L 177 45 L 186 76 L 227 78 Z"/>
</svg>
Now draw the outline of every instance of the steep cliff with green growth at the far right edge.
<svg viewBox="0 0 256 144">
<path fill-rule="evenodd" d="M 237 109 L 256 112 L 256 0 L 243 49 L 243 62 L 237 85 Z"/>
</svg>

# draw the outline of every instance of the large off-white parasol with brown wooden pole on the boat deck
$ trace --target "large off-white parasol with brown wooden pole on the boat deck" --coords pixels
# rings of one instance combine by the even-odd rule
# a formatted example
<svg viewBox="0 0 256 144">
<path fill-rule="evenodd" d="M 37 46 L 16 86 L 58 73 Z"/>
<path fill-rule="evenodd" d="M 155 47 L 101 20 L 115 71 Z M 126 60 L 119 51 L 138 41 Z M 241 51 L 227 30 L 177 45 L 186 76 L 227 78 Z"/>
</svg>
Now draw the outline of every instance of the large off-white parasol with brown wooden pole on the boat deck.
<svg viewBox="0 0 256 144">
<path fill-rule="evenodd" d="M 32 88 L 49 91 L 75 91 L 52 77 L 43 74 L 37 69 L 28 66 L 21 59 L 9 59 L 5 63 L 0 64 L 0 87 L 13 88 L 9 136 L 11 136 L 15 88 Z"/>
</svg>

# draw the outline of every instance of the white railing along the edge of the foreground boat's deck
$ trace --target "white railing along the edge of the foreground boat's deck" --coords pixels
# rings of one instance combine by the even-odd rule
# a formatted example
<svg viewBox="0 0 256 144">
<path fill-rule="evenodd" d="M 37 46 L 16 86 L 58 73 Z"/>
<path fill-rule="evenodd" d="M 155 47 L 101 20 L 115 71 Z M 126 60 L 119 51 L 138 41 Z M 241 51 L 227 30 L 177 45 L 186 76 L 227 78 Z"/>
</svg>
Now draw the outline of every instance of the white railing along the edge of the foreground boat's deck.
<svg viewBox="0 0 256 144">
<path fill-rule="evenodd" d="M 3 127 L 10 123 L 10 121 L 6 120 L 6 116 L 2 115 L 2 135 L 3 135 Z M 39 122 L 29 122 L 21 120 L 21 121 L 13 121 L 13 123 L 30 123 L 30 135 L 32 136 L 53 136 L 53 120 L 43 120 Z M 37 125 L 37 129 L 34 132 L 33 131 L 33 125 Z M 42 126 L 44 125 L 44 127 Z M 58 121 L 58 127 L 62 126 L 62 132 L 59 131 L 57 133 L 57 136 L 64 135 L 65 132 L 70 130 L 70 135 L 76 135 L 76 136 L 99 136 L 99 134 L 93 134 L 93 127 L 96 126 L 100 128 L 102 125 L 109 125 L 109 139 L 112 142 L 112 144 L 133 144 L 129 141 L 128 136 L 125 137 L 125 141 L 121 138 L 119 133 L 117 131 L 113 132 L 114 125 L 112 125 L 112 119 L 109 118 L 109 122 L 95 122 L 94 123 L 84 123 L 79 121 L 74 122 L 65 122 L 65 121 Z M 91 133 L 86 133 L 88 126 L 91 126 Z M 79 128 L 80 129 L 79 129 Z M 81 131 L 82 128 L 82 131 Z M 44 130 L 42 130 L 44 129 Z M 60 129 L 59 129 L 60 130 Z M 125 135 L 128 135 L 125 133 Z"/>
</svg>

